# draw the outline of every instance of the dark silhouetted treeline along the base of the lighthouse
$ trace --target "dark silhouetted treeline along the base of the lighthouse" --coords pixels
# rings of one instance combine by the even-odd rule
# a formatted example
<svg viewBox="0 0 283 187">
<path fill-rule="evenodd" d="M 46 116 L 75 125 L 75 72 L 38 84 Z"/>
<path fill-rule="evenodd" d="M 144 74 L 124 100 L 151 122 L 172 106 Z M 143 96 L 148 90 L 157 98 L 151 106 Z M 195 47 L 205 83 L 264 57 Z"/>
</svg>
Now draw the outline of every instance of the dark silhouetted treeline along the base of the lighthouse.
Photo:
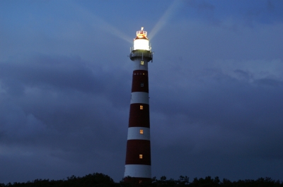
<svg viewBox="0 0 283 187">
<path fill-rule="evenodd" d="M 166 179 L 166 176 L 161 176 L 161 179 L 156 179 L 155 177 L 151 181 L 135 181 L 134 179 L 131 182 L 120 181 L 115 183 L 110 176 L 105 174 L 88 174 L 83 177 L 71 176 L 63 180 L 49 180 L 49 179 L 36 179 L 34 181 L 28 181 L 26 183 L 0 183 L 0 187 L 106 187 L 106 186 L 119 186 L 119 187 L 132 187 L 132 186 L 190 186 L 190 187 L 283 187 L 283 182 L 272 180 L 268 177 L 259 178 L 257 180 L 238 180 L 238 181 L 229 181 L 228 179 L 220 180 L 219 177 L 214 179 L 210 176 L 205 177 L 204 179 L 193 179 L 189 180 L 187 176 L 180 176 L 178 180 Z"/>
</svg>

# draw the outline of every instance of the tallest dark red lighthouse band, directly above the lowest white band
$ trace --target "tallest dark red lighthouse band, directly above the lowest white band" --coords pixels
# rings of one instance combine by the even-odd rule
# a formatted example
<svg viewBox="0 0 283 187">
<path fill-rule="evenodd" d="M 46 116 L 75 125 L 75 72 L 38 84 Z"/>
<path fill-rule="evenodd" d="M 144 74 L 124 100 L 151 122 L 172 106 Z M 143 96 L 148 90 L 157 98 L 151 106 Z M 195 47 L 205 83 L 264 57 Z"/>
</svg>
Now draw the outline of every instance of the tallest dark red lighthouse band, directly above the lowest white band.
<svg viewBox="0 0 283 187">
<path fill-rule="evenodd" d="M 142 155 L 142 159 L 139 155 Z M 150 141 L 127 140 L 126 164 L 151 165 Z"/>
</svg>

